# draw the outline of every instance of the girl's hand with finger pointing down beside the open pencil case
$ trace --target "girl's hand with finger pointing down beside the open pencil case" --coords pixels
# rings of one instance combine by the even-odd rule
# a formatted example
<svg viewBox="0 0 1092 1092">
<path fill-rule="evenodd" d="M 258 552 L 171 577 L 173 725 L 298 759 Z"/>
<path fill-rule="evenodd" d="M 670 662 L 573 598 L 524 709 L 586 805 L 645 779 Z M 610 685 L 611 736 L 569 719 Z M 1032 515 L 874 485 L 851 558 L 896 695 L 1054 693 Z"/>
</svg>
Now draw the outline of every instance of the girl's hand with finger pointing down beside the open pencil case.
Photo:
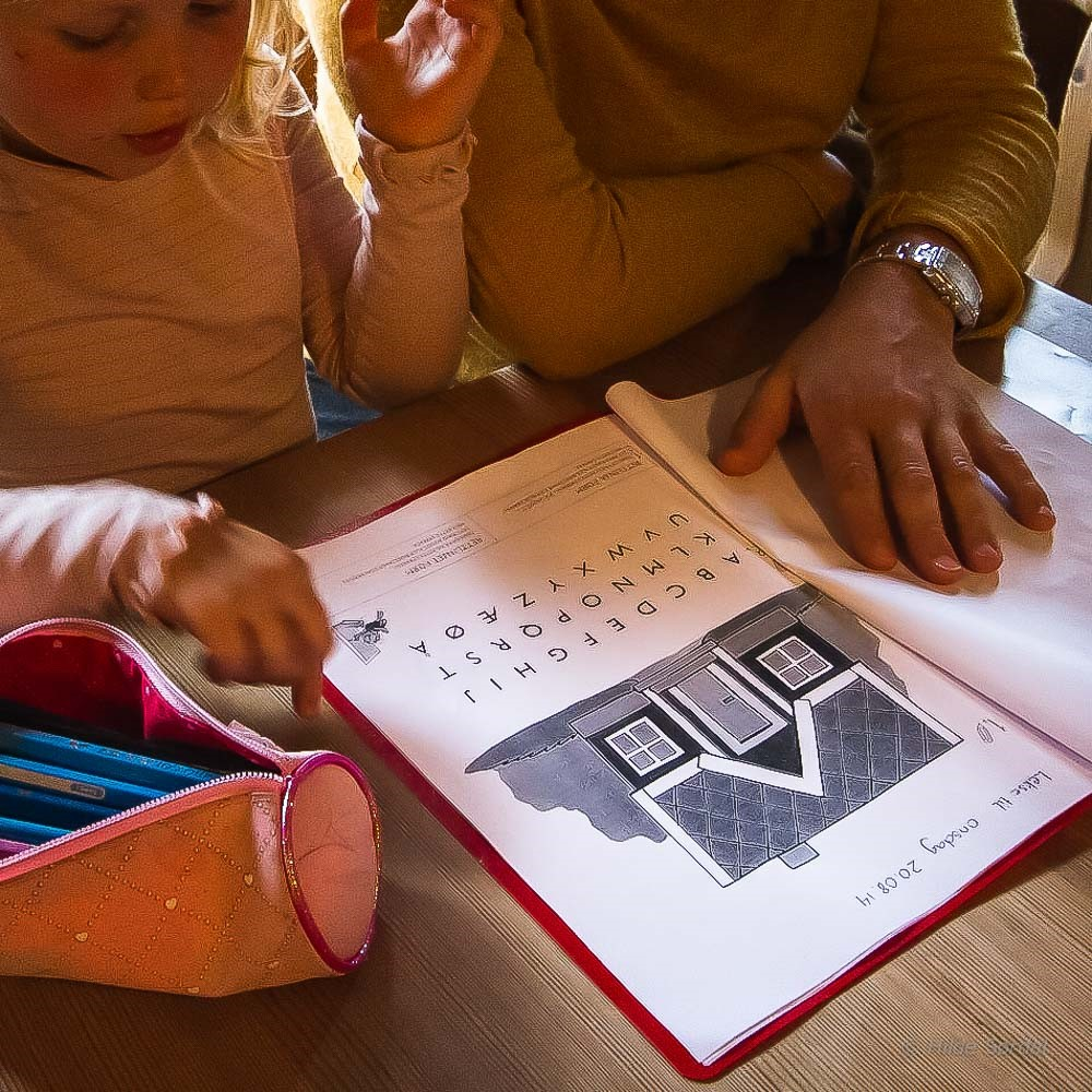
<svg viewBox="0 0 1092 1092">
<path fill-rule="evenodd" d="M 205 645 L 215 681 L 290 686 L 300 716 L 319 712 L 330 624 L 287 546 L 223 517 L 195 523 L 147 610 Z"/>
</svg>

